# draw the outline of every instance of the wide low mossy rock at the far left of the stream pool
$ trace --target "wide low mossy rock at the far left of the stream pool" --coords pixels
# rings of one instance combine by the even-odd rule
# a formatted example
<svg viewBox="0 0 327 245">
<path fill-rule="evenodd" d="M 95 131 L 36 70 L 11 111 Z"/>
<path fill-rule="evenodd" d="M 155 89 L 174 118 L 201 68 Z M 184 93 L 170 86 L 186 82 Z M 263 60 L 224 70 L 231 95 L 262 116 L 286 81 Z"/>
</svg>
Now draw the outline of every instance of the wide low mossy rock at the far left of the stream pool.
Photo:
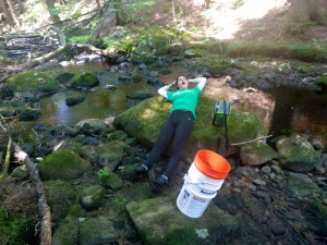
<svg viewBox="0 0 327 245">
<path fill-rule="evenodd" d="M 52 78 L 51 72 L 27 71 L 5 79 L 16 93 L 55 93 L 60 85 Z"/>
</svg>

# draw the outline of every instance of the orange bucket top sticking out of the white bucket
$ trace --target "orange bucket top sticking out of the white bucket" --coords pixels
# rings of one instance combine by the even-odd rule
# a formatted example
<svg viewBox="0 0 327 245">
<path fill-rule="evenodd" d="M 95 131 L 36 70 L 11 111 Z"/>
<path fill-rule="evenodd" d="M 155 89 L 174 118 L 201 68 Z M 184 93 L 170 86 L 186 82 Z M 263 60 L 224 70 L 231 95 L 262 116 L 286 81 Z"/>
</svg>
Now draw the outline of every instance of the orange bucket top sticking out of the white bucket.
<svg viewBox="0 0 327 245">
<path fill-rule="evenodd" d="M 215 180 L 226 179 L 231 169 L 223 157 L 210 150 L 198 150 L 194 164 L 202 174 Z"/>
</svg>

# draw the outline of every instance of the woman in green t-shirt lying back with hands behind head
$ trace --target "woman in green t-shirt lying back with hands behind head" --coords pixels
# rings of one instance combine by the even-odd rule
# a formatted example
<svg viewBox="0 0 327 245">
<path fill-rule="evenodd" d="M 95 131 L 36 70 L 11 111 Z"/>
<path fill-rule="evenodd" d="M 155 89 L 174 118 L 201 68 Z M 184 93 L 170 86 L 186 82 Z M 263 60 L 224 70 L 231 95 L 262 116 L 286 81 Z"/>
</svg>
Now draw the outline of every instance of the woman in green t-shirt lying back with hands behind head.
<svg viewBox="0 0 327 245">
<path fill-rule="evenodd" d="M 190 83 L 197 83 L 197 86 L 189 89 Z M 179 89 L 169 91 L 174 85 L 177 85 Z M 159 160 L 161 154 L 173 137 L 172 152 L 167 169 L 155 181 L 157 187 L 167 185 L 169 177 L 177 168 L 182 149 L 191 134 L 194 121 L 196 120 L 195 109 L 197 106 L 197 98 L 205 85 L 205 77 L 186 79 L 185 76 L 179 76 L 173 83 L 158 89 L 159 95 L 172 102 L 170 115 L 166 121 L 159 139 L 150 151 L 149 157 L 144 164 L 141 164 L 135 169 L 138 174 L 146 173 L 150 170 L 153 164 Z"/>
</svg>

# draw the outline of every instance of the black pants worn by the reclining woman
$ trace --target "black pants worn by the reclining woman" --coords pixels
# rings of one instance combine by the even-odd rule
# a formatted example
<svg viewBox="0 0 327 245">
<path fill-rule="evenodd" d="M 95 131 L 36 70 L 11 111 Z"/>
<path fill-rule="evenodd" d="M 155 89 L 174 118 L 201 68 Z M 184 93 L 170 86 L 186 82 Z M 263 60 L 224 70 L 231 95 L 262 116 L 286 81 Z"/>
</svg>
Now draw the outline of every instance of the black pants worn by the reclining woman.
<svg viewBox="0 0 327 245">
<path fill-rule="evenodd" d="M 173 111 L 166 121 L 159 139 L 150 151 L 145 164 L 150 169 L 153 164 L 160 159 L 161 154 L 166 150 L 173 137 L 172 152 L 169 158 L 167 169 L 164 172 L 164 174 L 170 176 L 173 170 L 177 168 L 179 158 L 189 138 L 189 135 L 191 134 L 193 125 L 194 119 L 191 111 Z"/>
</svg>

